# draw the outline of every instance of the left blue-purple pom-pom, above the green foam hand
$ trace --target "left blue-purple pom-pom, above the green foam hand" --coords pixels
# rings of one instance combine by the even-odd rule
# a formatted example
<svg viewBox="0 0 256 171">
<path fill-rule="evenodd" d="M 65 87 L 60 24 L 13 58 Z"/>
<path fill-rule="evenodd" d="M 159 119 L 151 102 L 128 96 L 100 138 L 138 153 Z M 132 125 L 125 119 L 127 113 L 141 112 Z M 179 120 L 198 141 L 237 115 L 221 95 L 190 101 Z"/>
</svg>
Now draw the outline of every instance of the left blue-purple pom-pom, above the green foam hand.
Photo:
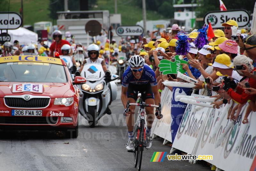
<svg viewBox="0 0 256 171">
<path fill-rule="evenodd" d="M 178 34 L 178 41 L 176 42 L 176 50 L 175 52 L 178 55 L 186 55 L 190 50 L 189 42 L 188 42 L 188 35 L 185 34 Z"/>
</svg>

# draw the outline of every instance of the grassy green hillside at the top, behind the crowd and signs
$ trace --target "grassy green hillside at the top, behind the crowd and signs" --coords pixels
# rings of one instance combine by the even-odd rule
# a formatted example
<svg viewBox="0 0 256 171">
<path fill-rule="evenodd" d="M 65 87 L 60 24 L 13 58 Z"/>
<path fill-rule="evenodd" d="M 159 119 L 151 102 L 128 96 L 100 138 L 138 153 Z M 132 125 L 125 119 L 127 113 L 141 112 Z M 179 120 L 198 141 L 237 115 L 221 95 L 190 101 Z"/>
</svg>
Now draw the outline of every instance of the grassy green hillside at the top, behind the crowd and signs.
<svg viewBox="0 0 256 171">
<path fill-rule="evenodd" d="M 60 0 L 63 1 L 63 0 Z M 72 0 L 69 0 L 72 1 Z M 142 20 L 142 9 L 134 4 L 135 0 L 117 0 L 117 13 L 122 14 L 122 25 L 135 25 L 137 21 Z M 10 0 L 10 12 L 20 13 L 21 0 Z M 109 10 L 115 12 L 114 0 L 98 0 L 90 10 Z M 33 25 L 39 21 L 52 21 L 49 17 L 50 0 L 23 0 L 24 25 Z M 8 12 L 9 0 L 0 0 L 0 11 Z M 77 9 L 79 10 L 79 9 Z M 147 11 L 148 20 L 164 19 L 157 12 Z M 56 20 L 54 21 L 56 24 Z"/>
</svg>

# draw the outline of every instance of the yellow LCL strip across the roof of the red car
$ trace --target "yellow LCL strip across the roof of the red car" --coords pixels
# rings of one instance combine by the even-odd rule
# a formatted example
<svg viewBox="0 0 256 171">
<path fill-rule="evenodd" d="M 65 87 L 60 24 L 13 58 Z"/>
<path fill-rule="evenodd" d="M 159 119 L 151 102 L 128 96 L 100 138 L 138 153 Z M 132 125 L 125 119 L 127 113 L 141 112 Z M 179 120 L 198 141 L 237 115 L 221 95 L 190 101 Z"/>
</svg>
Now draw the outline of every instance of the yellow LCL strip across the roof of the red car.
<svg viewBox="0 0 256 171">
<path fill-rule="evenodd" d="M 45 62 L 51 64 L 63 65 L 59 58 L 44 56 L 7 56 L 0 58 L 0 63 L 6 62 Z"/>
</svg>

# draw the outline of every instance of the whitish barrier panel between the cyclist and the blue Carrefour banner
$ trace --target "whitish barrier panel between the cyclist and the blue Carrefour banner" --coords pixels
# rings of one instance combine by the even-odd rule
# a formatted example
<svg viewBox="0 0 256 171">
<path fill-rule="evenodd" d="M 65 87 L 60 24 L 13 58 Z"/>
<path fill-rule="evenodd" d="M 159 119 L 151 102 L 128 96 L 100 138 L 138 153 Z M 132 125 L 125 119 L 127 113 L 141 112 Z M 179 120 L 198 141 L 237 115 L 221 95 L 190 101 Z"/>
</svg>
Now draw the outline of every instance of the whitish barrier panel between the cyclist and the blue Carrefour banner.
<svg viewBox="0 0 256 171">
<path fill-rule="evenodd" d="M 153 131 L 153 134 L 160 136 L 162 138 L 165 138 L 166 132 L 168 131 L 168 129 L 170 129 L 170 125 L 171 125 L 171 108 L 170 108 L 171 99 L 172 99 L 172 91 L 169 90 L 168 87 L 165 87 L 161 93 L 161 104 L 162 104 L 161 113 L 163 115 L 163 118 L 158 120 L 155 117 L 156 125 Z"/>
</svg>

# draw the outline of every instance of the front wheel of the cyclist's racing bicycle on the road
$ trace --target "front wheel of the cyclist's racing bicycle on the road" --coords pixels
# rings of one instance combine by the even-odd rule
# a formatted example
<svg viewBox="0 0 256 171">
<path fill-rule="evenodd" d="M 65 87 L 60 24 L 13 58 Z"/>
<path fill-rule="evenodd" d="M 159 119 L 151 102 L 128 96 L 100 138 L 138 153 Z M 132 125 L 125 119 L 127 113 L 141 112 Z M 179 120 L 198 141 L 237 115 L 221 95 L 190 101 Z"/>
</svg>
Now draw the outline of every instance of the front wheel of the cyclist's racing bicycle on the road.
<svg viewBox="0 0 256 171">
<path fill-rule="evenodd" d="M 142 161 L 142 153 L 143 153 L 143 149 L 144 149 L 144 120 L 141 120 L 140 123 L 140 136 L 138 138 L 139 140 L 139 145 L 138 145 L 138 164 L 137 164 L 137 168 L 138 171 L 140 171 L 140 167 L 141 167 L 141 161 Z"/>
</svg>

